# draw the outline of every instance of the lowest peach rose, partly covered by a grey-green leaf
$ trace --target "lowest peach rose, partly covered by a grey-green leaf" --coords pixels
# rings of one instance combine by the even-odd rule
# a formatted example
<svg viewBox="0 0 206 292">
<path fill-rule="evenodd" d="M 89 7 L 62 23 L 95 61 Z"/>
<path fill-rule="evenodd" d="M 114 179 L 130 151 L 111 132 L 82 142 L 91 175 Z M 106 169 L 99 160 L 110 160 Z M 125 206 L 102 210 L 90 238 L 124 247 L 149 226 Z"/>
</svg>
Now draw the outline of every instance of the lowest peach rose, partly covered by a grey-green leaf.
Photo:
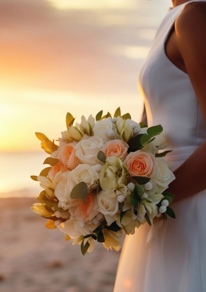
<svg viewBox="0 0 206 292">
<path fill-rule="evenodd" d="M 88 221 L 92 220 L 99 212 L 96 200 L 96 191 L 88 194 L 86 204 L 80 199 L 78 205 L 75 208 L 75 217 L 78 220 Z"/>
</svg>

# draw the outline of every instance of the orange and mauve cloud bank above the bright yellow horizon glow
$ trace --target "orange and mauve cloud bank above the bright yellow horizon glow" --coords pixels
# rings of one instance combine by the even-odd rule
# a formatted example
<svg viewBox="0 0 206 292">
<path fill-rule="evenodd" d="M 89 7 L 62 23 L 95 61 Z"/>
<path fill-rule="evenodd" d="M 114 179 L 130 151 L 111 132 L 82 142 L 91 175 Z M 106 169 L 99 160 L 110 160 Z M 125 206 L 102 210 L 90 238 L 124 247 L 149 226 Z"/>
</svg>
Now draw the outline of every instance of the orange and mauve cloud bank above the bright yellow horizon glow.
<svg viewBox="0 0 206 292">
<path fill-rule="evenodd" d="M 83 1 L 88 7 L 94 2 Z M 167 10 L 160 1 L 162 7 L 138 0 L 112 6 L 112 0 L 102 0 L 104 9 L 84 4 L 81 10 L 59 10 L 48 0 L 1 0 L 2 86 L 137 93 L 144 51 Z"/>
</svg>

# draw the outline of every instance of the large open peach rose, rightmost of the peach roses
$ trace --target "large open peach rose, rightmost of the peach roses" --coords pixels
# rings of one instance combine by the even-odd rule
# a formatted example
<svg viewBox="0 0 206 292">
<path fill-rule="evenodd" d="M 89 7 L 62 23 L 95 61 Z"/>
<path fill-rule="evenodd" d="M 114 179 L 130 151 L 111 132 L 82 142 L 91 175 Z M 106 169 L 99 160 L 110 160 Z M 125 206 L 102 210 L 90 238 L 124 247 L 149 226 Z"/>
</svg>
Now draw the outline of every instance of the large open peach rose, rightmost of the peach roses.
<svg viewBox="0 0 206 292">
<path fill-rule="evenodd" d="M 130 152 L 124 164 L 126 164 L 130 176 L 145 176 L 149 178 L 154 175 L 156 169 L 154 155 L 142 150 Z"/>
</svg>

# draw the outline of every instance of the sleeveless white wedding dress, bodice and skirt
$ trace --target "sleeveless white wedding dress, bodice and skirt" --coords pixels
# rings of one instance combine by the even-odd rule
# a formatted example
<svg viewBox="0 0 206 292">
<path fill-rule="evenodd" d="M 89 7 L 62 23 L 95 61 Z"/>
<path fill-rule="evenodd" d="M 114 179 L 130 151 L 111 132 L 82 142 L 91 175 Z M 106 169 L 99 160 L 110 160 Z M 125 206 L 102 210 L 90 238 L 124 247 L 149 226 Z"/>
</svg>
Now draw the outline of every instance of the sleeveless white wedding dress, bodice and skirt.
<svg viewBox="0 0 206 292">
<path fill-rule="evenodd" d="M 197 1 L 176 6 L 165 16 L 138 79 L 148 126 L 161 124 L 168 135 L 173 151 L 165 159 L 172 169 L 206 139 L 189 76 L 164 50 L 177 15 L 191 2 Z M 206 190 L 177 201 L 172 208 L 176 219 L 168 217 L 161 227 L 144 224 L 126 236 L 114 292 L 206 292 Z"/>
</svg>

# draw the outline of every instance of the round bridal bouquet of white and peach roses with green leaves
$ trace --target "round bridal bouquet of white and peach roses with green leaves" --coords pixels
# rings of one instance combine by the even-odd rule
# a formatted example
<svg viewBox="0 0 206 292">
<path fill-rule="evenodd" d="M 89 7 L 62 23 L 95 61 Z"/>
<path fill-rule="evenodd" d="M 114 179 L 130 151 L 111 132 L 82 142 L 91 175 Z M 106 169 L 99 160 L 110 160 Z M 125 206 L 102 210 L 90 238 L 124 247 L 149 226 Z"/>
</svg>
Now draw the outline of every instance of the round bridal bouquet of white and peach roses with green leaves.
<svg viewBox="0 0 206 292">
<path fill-rule="evenodd" d="M 133 234 L 155 216 L 175 218 L 168 206 L 174 196 L 165 190 L 175 176 L 163 157 L 166 135 L 161 125 L 147 128 L 121 116 L 120 109 L 95 119 L 75 118 L 67 113 L 67 130 L 59 146 L 36 133 L 41 147 L 50 154 L 49 164 L 31 178 L 44 189 L 32 211 L 46 218 L 48 228 L 58 227 L 81 245 L 84 255 L 94 249 L 94 240 L 107 249 L 119 250 L 122 230 Z"/>
</svg>

